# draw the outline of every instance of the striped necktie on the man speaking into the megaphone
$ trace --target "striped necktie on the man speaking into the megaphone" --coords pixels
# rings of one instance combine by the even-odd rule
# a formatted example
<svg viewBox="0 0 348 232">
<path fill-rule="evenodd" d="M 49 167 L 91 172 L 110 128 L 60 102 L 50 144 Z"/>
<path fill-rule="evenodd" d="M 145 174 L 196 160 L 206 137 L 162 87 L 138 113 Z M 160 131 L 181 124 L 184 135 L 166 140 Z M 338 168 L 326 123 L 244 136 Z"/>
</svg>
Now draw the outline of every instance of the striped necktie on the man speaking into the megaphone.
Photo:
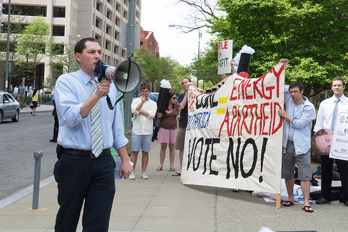
<svg viewBox="0 0 348 232">
<path fill-rule="evenodd" d="M 97 85 L 93 78 L 90 79 L 90 82 L 93 84 L 90 88 L 90 95 L 95 93 Z M 98 157 L 103 150 L 103 141 L 102 141 L 102 127 L 100 127 L 100 106 L 99 101 L 93 109 L 90 111 L 90 130 L 92 135 L 92 153 L 95 157 Z"/>
</svg>

